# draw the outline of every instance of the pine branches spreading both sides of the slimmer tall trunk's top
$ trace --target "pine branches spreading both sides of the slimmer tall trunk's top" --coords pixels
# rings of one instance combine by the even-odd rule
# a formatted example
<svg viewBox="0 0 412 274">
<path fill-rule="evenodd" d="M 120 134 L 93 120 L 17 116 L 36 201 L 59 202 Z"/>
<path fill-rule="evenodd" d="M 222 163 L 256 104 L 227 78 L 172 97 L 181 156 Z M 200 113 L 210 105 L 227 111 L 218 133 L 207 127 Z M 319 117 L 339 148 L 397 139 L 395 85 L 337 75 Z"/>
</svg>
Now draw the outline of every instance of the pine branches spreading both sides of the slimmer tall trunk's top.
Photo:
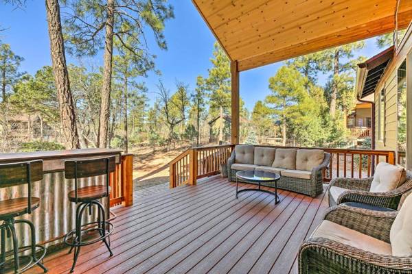
<svg viewBox="0 0 412 274">
<path fill-rule="evenodd" d="M 96 55 L 104 47 L 105 0 L 67 0 L 63 20 L 70 53 Z M 161 49 L 167 49 L 163 34 L 165 21 L 173 18 L 173 8 L 164 0 L 117 0 L 113 34 L 118 50 L 133 55 L 150 55 L 146 33 L 151 31 Z"/>
</svg>

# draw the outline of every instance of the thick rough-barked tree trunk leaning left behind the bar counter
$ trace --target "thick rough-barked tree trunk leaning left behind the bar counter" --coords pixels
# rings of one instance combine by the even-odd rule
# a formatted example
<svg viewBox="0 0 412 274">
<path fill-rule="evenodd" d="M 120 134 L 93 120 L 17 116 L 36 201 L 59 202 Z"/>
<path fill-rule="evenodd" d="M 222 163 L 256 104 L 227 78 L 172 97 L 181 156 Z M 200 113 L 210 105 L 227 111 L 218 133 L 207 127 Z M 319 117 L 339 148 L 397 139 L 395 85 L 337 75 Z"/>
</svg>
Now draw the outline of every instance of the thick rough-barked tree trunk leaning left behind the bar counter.
<svg viewBox="0 0 412 274">
<path fill-rule="evenodd" d="M 46 11 L 54 82 L 56 82 L 65 147 L 67 149 L 78 149 L 80 148 L 79 136 L 76 126 L 73 97 L 70 91 L 69 73 L 67 72 L 66 66 L 65 44 L 63 42 L 58 0 L 46 0 Z"/>
</svg>

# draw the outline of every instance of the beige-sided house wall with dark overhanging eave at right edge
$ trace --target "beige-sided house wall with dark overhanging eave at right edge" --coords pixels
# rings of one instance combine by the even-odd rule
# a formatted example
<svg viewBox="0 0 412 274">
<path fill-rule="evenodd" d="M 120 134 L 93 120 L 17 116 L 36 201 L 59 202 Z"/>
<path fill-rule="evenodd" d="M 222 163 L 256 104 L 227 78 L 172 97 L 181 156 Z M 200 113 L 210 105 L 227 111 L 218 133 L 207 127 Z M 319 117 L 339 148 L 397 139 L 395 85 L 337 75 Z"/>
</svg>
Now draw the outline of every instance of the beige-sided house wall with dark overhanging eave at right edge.
<svg viewBox="0 0 412 274">
<path fill-rule="evenodd" d="M 358 64 L 358 99 L 372 105 L 372 149 L 396 151 L 397 164 L 412 168 L 412 134 L 407 136 L 407 117 L 412 121 L 412 25 L 403 37 L 394 35 L 395 46 Z M 409 126 L 412 125 L 409 123 Z M 411 129 L 409 129 L 411 131 Z M 407 149 L 409 148 L 409 149 Z M 407 164 L 407 158 L 410 160 Z"/>
</svg>

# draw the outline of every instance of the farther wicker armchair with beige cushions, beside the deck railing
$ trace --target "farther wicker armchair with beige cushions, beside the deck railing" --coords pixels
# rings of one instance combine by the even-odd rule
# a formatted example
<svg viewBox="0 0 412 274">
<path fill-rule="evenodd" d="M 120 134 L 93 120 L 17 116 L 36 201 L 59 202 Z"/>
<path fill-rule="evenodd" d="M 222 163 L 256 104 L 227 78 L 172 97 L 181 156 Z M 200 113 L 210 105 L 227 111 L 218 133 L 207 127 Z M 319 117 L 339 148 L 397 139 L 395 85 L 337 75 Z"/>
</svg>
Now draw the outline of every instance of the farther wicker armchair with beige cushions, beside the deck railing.
<svg viewBox="0 0 412 274">
<path fill-rule="evenodd" d="M 398 209 L 402 195 L 412 190 L 412 173 L 401 166 L 380 162 L 373 177 L 336 178 L 328 187 L 329 206 L 358 202 Z"/>
</svg>

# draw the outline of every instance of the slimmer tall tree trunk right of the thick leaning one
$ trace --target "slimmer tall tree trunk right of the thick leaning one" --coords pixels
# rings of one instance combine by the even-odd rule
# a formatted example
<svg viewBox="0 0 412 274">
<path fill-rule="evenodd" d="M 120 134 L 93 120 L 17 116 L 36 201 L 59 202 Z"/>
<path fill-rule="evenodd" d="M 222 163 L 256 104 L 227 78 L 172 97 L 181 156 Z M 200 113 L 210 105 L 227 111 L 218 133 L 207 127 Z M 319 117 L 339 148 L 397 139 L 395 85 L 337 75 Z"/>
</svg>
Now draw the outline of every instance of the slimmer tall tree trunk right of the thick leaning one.
<svg viewBox="0 0 412 274">
<path fill-rule="evenodd" d="M 106 41 L 104 45 L 104 77 L 102 102 L 100 104 L 99 147 L 107 147 L 108 119 L 110 116 L 110 94 L 113 59 L 113 24 L 115 21 L 115 1 L 107 0 Z"/>
</svg>

